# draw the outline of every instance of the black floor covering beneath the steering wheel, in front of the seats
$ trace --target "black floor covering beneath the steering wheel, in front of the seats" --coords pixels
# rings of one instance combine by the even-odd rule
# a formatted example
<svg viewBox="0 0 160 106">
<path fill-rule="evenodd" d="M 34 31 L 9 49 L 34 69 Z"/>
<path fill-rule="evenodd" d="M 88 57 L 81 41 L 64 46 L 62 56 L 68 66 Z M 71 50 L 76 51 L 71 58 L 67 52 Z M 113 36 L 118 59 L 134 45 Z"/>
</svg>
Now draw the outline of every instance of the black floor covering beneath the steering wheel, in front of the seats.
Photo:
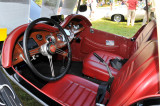
<svg viewBox="0 0 160 106">
<path fill-rule="evenodd" d="M 49 62 L 35 62 L 34 64 L 35 68 L 43 75 L 51 77 L 51 70 Z M 53 67 L 54 67 L 54 73 L 55 76 L 58 76 L 61 72 L 63 63 L 62 61 L 54 61 Z M 82 77 L 84 79 L 87 79 L 89 81 L 92 81 L 94 83 L 100 84 L 102 81 L 96 80 L 94 78 L 87 77 L 82 74 L 83 69 L 83 63 L 82 62 L 76 62 L 72 61 L 71 66 L 67 72 L 67 74 L 73 74 L 79 77 Z M 33 72 L 30 70 L 30 68 L 25 65 L 21 68 L 21 72 L 23 76 L 25 76 L 30 82 L 32 82 L 34 85 L 36 85 L 39 88 L 42 88 L 47 82 L 43 81 L 39 77 L 37 77 Z"/>
</svg>

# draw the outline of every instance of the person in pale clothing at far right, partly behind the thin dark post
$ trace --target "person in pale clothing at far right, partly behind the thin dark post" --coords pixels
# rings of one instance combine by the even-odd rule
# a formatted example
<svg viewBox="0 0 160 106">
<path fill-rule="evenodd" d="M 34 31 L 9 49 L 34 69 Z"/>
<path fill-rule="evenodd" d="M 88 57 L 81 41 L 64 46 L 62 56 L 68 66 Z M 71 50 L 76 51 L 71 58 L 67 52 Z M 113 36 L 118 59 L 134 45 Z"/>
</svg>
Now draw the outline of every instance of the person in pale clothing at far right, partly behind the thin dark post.
<svg viewBox="0 0 160 106">
<path fill-rule="evenodd" d="M 142 25 L 145 25 L 146 22 L 147 22 L 146 6 L 144 7 L 144 10 L 145 10 L 145 15 L 144 15 L 144 18 L 143 18 Z M 155 2 L 154 2 L 154 0 L 148 0 L 148 18 L 151 18 L 151 20 L 155 19 L 154 12 L 155 12 Z"/>
</svg>

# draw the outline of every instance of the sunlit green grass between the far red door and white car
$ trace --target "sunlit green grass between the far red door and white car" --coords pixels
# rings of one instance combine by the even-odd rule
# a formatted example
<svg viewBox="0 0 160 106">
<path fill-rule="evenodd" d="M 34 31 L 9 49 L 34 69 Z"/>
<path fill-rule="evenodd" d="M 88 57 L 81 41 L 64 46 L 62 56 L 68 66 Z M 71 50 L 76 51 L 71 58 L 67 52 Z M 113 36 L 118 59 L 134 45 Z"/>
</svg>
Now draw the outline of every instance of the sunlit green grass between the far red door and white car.
<svg viewBox="0 0 160 106">
<path fill-rule="evenodd" d="M 114 33 L 117 35 L 122 35 L 126 37 L 132 37 L 137 30 L 142 26 L 141 21 L 136 21 L 135 25 L 127 26 L 127 22 L 113 22 L 110 20 L 107 20 L 105 18 L 96 20 L 92 22 L 92 27 L 95 29 L 99 29 L 105 32 Z"/>
</svg>

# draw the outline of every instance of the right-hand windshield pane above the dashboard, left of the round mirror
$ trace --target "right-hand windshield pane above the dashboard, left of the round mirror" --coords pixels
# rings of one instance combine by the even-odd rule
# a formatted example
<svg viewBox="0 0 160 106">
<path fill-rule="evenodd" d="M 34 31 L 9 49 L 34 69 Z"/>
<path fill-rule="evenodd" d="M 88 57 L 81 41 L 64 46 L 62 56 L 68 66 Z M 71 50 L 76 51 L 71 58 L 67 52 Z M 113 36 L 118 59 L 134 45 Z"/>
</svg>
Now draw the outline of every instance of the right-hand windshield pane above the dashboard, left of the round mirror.
<svg viewBox="0 0 160 106">
<path fill-rule="evenodd" d="M 43 0 L 41 16 L 50 17 L 75 13 L 76 4 L 77 0 Z"/>
</svg>

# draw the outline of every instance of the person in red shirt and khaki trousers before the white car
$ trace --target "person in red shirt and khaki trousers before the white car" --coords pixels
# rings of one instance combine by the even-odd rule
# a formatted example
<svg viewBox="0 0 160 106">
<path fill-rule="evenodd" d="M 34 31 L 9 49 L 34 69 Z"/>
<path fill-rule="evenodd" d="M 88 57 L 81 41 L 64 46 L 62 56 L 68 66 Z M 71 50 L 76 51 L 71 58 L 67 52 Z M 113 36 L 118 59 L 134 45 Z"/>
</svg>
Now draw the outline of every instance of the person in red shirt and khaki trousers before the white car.
<svg viewBox="0 0 160 106">
<path fill-rule="evenodd" d="M 127 17 L 128 26 L 130 25 L 130 23 L 132 26 L 134 26 L 137 4 L 138 4 L 137 0 L 128 0 L 126 2 L 126 5 L 128 7 L 128 17 Z"/>
</svg>

